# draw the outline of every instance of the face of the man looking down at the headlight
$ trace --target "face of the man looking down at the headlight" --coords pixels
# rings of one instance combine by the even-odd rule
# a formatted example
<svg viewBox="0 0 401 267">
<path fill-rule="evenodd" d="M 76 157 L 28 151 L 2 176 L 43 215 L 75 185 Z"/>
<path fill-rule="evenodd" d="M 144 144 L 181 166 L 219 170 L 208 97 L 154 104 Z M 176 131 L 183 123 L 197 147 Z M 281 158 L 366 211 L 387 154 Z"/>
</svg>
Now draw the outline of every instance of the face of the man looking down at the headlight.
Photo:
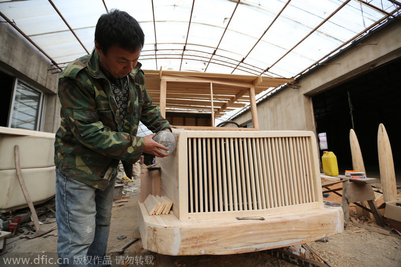
<svg viewBox="0 0 401 267">
<path fill-rule="evenodd" d="M 127 51 L 119 46 L 111 46 L 107 50 L 107 56 L 100 49 L 99 44 L 95 42 L 95 48 L 100 56 L 103 67 L 113 77 L 124 77 L 132 71 L 138 63 L 140 49 L 136 52 Z"/>
</svg>

